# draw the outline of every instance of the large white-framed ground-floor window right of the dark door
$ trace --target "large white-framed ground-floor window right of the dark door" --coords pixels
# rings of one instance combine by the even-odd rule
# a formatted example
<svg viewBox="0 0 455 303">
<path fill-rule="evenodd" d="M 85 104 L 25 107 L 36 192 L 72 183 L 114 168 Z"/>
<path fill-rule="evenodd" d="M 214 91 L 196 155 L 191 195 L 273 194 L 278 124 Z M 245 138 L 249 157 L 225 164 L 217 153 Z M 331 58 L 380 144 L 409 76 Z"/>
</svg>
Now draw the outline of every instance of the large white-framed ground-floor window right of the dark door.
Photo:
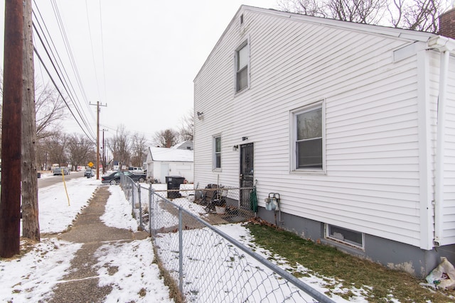
<svg viewBox="0 0 455 303">
<path fill-rule="evenodd" d="M 291 170 L 319 172 L 325 170 L 323 105 L 323 101 L 319 101 L 291 112 L 294 132 Z"/>
</svg>

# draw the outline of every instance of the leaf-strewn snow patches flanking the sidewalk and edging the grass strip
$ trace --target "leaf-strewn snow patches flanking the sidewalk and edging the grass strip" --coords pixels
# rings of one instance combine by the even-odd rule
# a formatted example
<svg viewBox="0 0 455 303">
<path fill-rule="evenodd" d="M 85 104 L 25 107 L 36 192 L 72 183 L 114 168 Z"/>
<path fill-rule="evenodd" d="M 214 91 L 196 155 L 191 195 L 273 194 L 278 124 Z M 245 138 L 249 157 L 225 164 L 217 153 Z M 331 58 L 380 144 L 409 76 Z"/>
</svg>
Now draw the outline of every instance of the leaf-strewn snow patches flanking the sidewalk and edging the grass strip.
<svg viewBox="0 0 455 303">
<path fill-rule="evenodd" d="M 65 231 L 75 216 L 87 206 L 92 193 L 100 184 L 100 180 L 95 178 L 80 177 L 68 180 L 66 190 L 63 183 L 40 189 L 38 197 L 41 233 Z M 106 212 L 100 219 L 107 226 L 137 230 L 137 222 L 130 216 L 131 206 L 124 198 L 121 187 L 109 186 L 109 192 L 111 196 L 107 201 Z M 254 238 L 241 224 L 226 224 L 219 227 L 232 238 L 259 252 L 264 258 L 272 258 L 284 268 L 287 266 L 286 260 L 255 246 Z M 36 243 L 33 250 L 21 258 L 0 260 L 0 302 L 30 302 L 32 298 L 33 302 L 40 300 L 45 302 L 51 297 L 53 287 L 68 273 L 70 261 L 80 247 L 79 243 L 43 237 L 41 243 Z M 113 285 L 113 291 L 105 302 L 172 302 L 168 297 L 168 287 L 159 277 L 156 264 L 152 263 L 154 260 L 152 251 L 150 239 L 100 248 L 97 264 L 100 268 L 98 270 L 100 286 Z M 106 263 L 118 266 L 118 272 L 114 275 L 104 272 L 102 265 Z M 142 272 L 137 268 L 148 270 Z M 305 271 L 303 267 L 299 270 Z M 313 275 L 301 279 L 321 292 L 326 290 L 324 288 L 326 279 Z M 146 290 L 145 296 L 139 295 L 141 289 Z M 357 293 L 355 301 L 351 299 L 350 302 L 367 302 L 362 296 L 362 290 L 358 290 Z M 336 295 L 331 299 L 336 302 L 347 302 Z"/>
</svg>

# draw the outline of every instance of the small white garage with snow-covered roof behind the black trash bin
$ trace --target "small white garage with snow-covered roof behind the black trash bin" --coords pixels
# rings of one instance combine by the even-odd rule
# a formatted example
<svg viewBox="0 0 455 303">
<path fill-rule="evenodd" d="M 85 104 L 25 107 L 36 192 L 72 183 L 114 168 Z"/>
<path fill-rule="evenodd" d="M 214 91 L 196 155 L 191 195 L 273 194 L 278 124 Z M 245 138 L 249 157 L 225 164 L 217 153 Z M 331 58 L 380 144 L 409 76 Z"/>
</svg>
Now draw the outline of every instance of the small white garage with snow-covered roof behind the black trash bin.
<svg viewBox="0 0 455 303">
<path fill-rule="evenodd" d="M 150 147 L 146 160 L 147 178 L 166 183 L 166 176 L 181 176 L 193 182 L 193 150 Z"/>
</svg>

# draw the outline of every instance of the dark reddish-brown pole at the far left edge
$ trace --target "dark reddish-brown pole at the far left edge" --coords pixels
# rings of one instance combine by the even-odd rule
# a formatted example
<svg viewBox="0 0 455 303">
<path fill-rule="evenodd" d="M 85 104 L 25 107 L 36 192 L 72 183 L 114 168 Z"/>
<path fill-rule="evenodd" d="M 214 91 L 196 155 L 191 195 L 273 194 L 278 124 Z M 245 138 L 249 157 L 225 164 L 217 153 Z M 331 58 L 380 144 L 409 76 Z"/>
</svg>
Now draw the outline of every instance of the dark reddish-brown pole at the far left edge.
<svg viewBox="0 0 455 303">
<path fill-rule="evenodd" d="M 0 257 L 20 253 L 23 0 L 5 1 Z"/>
</svg>

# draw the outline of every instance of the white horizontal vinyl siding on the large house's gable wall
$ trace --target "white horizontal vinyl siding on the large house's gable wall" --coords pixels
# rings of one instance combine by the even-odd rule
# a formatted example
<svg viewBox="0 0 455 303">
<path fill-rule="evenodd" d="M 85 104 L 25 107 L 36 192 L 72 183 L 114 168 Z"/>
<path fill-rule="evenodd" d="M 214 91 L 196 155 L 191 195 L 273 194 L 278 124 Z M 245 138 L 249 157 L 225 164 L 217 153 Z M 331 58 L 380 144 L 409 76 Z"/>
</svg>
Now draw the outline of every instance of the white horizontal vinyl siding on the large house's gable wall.
<svg viewBox="0 0 455 303">
<path fill-rule="evenodd" d="M 241 13 L 248 27 L 240 31 L 238 22 L 230 23 L 194 81 L 195 110 L 206 118 L 195 121 L 195 182 L 219 177 L 238 186 L 239 153 L 232 145 L 246 136 L 245 143 L 255 143 L 259 206 L 269 192 L 279 192 L 285 213 L 421 246 L 417 56 L 393 61 L 393 51 L 413 41 L 381 27 L 366 33 L 355 28 L 364 25 L 324 26 L 333 21 L 308 16 L 250 8 Z M 252 45 L 250 89 L 235 94 L 232 49 L 246 37 Z M 321 99 L 325 173 L 293 172 L 289 113 Z M 436 101 L 429 94 L 429 112 Z M 210 138 L 222 132 L 223 173 L 217 174 Z M 455 170 L 449 174 L 455 178 Z M 455 196 L 452 189 L 446 197 Z M 453 233 L 455 243 L 451 203 L 444 232 Z"/>
</svg>

